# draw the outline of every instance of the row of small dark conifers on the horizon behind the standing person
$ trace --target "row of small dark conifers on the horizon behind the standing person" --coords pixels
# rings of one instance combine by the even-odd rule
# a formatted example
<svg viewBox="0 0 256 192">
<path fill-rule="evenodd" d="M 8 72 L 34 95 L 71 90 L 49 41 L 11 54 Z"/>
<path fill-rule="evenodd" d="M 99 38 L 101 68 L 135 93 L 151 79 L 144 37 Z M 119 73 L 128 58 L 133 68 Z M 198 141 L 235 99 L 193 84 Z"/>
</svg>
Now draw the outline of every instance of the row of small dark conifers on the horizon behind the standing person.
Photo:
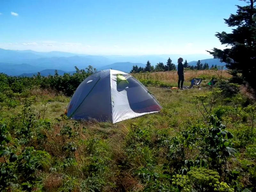
<svg viewBox="0 0 256 192">
<path fill-rule="evenodd" d="M 200 60 L 197 61 L 196 66 L 190 66 L 187 62 L 187 60 L 185 60 L 184 64 L 184 69 L 190 69 L 190 70 L 207 70 L 207 69 L 215 69 L 217 68 L 217 65 L 212 65 L 211 67 L 208 65 L 208 63 L 201 63 Z M 167 60 L 166 64 L 164 65 L 163 62 L 159 62 L 156 64 L 156 66 L 154 67 L 153 65 L 151 65 L 150 61 L 147 61 L 146 67 L 138 67 L 137 65 L 133 65 L 132 66 L 132 70 L 130 73 L 140 73 L 140 72 L 159 72 L 159 71 L 174 71 L 177 70 L 176 65 L 172 63 L 172 60 L 169 59 Z"/>
</svg>

